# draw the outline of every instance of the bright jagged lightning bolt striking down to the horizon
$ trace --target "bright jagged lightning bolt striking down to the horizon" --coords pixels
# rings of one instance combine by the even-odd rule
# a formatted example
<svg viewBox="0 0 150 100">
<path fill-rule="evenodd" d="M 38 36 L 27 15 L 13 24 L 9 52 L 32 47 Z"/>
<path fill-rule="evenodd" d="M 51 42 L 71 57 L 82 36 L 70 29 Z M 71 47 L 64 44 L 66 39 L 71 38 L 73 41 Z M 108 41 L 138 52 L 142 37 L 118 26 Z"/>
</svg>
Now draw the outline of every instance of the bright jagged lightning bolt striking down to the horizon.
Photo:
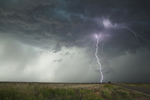
<svg viewBox="0 0 150 100">
<path fill-rule="evenodd" d="M 97 34 L 95 35 L 95 37 L 96 37 L 96 39 L 97 39 L 97 42 L 96 42 L 96 52 L 95 52 L 95 57 L 96 57 L 96 59 L 97 59 L 97 63 L 99 64 L 99 69 L 100 69 L 100 74 L 101 74 L 100 83 L 102 83 L 102 81 L 103 81 L 102 65 L 101 65 L 101 63 L 100 63 L 100 61 L 99 61 L 99 58 L 98 58 L 98 56 L 97 56 L 97 53 L 98 53 L 98 44 L 99 44 L 99 38 L 98 38 Z"/>
</svg>

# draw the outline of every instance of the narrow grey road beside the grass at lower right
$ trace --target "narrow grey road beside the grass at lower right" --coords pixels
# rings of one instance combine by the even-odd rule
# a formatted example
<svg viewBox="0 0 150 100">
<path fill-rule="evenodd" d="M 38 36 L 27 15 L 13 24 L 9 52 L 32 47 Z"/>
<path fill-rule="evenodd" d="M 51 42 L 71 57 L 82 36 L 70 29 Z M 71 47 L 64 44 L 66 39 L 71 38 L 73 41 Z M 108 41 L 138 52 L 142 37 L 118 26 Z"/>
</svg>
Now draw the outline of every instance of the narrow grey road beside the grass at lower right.
<svg viewBox="0 0 150 100">
<path fill-rule="evenodd" d="M 150 96 L 150 89 L 149 88 L 129 86 L 129 85 L 120 85 L 120 84 L 114 84 L 114 85 L 121 86 L 121 87 L 131 89 L 131 90 L 135 90 L 135 91 L 138 91 L 138 92 L 142 92 L 142 93 L 147 94 L 147 95 Z"/>
</svg>

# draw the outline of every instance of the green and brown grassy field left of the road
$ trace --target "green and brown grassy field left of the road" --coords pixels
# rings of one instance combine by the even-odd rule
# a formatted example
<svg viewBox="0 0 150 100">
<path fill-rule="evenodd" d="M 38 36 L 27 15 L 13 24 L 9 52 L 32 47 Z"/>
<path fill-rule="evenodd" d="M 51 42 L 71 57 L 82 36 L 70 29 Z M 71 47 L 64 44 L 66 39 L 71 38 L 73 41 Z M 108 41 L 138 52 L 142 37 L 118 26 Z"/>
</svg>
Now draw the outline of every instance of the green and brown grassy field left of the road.
<svg viewBox="0 0 150 100">
<path fill-rule="evenodd" d="M 150 100 L 112 84 L 0 83 L 0 100 Z"/>
</svg>

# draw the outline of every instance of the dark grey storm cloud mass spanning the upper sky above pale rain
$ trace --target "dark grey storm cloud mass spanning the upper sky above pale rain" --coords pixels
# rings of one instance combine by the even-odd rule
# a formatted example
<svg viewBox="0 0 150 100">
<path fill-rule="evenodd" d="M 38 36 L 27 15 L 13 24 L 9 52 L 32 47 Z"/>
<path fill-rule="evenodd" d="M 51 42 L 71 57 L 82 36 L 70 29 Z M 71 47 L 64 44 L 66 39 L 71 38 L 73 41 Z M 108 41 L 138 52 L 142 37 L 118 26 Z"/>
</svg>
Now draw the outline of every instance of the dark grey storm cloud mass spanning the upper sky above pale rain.
<svg viewBox="0 0 150 100">
<path fill-rule="evenodd" d="M 86 58 L 92 59 L 96 43 L 94 34 L 101 34 L 98 56 L 105 59 L 102 65 L 107 74 L 115 72 L 108 60 L 136 55 L 143 47 L 143 53 L 149 52 L 150 43 L 137 36 L 139 44 L 134 33 L 126 28 L 150 40 L 149 5 L 149 0 L 1 0 L 0 36 L 12 37 L 53 53 L 60 52 L 63 47 L 88 47 Z M 102 44 L 105 56 L 100 54 Z M 20 50 L 16 48 L 16 51 Z M 75 53 L 62 54 L 75 58 Z M 61 61 L 63 59 L 53 62 Z"/>
</svg>

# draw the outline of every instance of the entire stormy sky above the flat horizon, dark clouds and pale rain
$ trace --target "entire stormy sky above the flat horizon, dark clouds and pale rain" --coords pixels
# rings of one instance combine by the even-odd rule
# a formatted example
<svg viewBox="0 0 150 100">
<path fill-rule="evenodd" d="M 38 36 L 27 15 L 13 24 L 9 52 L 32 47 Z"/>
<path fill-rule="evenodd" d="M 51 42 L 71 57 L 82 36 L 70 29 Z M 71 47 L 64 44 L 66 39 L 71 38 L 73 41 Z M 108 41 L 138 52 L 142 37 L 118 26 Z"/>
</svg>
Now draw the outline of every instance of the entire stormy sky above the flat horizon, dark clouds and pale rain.
<svg viewBox="0 0 150 100">
<path fill-rule="evenodd" d="M 150 82 L 149 5 L 0 0 L 0 81 Z"/>
</svg>

